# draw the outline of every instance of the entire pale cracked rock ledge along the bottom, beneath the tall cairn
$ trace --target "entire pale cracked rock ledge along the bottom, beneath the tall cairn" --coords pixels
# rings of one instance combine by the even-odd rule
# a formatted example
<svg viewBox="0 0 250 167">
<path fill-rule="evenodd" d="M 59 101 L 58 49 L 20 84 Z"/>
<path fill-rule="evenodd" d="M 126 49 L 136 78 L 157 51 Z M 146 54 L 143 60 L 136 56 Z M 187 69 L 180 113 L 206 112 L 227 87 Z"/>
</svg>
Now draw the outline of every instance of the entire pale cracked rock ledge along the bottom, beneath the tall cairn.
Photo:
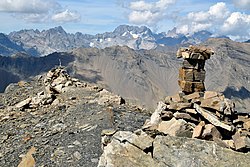
<svg viewBox="0 0 250 167">
<path fill-rule="evenodd" d="M 153 141 L 150 139 L 146 144 L 149 146 L 148 149 L 141 150 L 137 144 L 131 142 L 132 138 L 139 139 L 140 135 L 128 132 L 122 134 L 122 136 L 124 135 L 126 137 L 112 138 L 111 142 L 104 147 L 103 154 L 99 159 L 99 167 L 248 167 L 250 163 L 249 153 L 235 152 L 211 141 L 157 135 Z M 130 141 L 127 141 L 127 138 L 131 138 Z M 148 139 L 145 138 L 145 140 Z"/>
</svg>

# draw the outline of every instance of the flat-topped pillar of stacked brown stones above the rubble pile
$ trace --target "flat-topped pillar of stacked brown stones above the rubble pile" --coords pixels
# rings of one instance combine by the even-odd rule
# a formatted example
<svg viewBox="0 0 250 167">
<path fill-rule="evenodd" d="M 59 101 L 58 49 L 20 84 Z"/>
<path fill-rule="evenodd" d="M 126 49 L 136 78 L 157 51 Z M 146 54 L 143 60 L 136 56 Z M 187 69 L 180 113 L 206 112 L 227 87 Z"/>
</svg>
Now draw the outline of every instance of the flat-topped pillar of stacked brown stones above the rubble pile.
<svg viewBox="0 0 250 167">
<path fill-rule="evenodd" d="M 185 94 L 205 91 L 205 62 L 214 52 L 205 47 L 189 46 L 177 51 L 177 58 L 183 58 L 179 70 L 179 86 Z"/>
</svg>

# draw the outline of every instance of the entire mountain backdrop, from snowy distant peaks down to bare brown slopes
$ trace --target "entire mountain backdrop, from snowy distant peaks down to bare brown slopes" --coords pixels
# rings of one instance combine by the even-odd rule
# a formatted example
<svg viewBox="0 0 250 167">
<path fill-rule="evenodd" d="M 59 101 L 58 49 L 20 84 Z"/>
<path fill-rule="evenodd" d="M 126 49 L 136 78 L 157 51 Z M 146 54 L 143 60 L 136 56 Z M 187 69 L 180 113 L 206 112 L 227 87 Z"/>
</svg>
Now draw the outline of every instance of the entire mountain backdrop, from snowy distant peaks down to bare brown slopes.
<svg viewBox="0 0 250 167">
<path fill-rule="evenodd" d="M 164 96 L 179 91 L 177 49 L 199 43 L 215 51 L 206 65 L 207 90 L 223 92 L 246 111 L 250 107 L 250 43 L 212 36 L 207 31 L 185 36 L 176 29 L 155 34 L 147 27 L 127 25 L 97 35 L 69 34 L 62 27 L 0 34 L 4 78 L 0 92 L 9 83 L 63 65 L 74 77 L 153 108 Z"/>
</svg>

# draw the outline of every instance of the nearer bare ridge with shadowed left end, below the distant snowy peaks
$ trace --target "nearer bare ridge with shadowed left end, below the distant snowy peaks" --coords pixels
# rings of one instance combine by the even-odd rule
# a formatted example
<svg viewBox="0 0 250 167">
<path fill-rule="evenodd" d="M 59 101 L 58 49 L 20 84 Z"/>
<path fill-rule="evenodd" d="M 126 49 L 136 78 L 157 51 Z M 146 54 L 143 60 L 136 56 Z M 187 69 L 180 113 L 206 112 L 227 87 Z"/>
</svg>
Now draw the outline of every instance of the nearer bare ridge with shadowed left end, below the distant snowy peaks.
<svg viewBox="0 0 250 167">
<path fill-rule="evenodd" d="M 202 45 L 213 48 L 207 61 L 207 90 L 223 92 L 234 99 L 242 112 L 250 107 L 250 44 L 230 39 L 211 38 Z M 24 53 L 1 56 L 0 69 L 8 76 L 1 91 L 11 82 L 27 80 L 54 66 L 63 65 L 74 77 L 96 83 L 147 107 L 179 91 L 178 69 L 182 61 L 175 56 L 177 47 L 134 50 L 127 46 L 76 48 L 34 57 Z"/>
</svg>

